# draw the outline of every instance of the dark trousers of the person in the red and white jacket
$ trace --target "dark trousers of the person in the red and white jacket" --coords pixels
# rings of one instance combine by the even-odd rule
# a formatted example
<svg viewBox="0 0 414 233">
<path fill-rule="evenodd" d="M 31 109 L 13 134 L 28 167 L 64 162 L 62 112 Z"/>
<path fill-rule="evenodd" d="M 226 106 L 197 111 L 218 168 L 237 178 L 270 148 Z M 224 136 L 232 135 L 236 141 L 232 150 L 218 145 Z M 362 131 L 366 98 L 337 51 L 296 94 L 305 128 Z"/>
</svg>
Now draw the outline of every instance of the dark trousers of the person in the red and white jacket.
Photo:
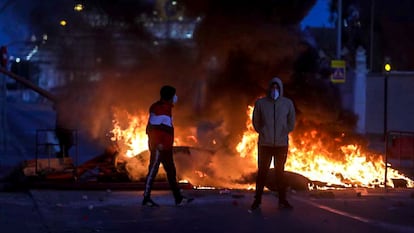
<svg viewBox="0 0 414 233">
<path fill-rule="evenodd" d="M 174 195 L 174 198 L 175 200 L 178 200 L 181 197 L 181 193 L 177 183 L 177 172 L 175 170 L 172 150 L 151 150 L 148 174 L 145 180 L 144 197 L 151 196 L 152 185 L 154 183 L 155 177 L 157 176 L 160 163 L 162 163 L 162 166 L 167 173 L 168 184 L 170 185 L 170 189 Z"/>
</svg>

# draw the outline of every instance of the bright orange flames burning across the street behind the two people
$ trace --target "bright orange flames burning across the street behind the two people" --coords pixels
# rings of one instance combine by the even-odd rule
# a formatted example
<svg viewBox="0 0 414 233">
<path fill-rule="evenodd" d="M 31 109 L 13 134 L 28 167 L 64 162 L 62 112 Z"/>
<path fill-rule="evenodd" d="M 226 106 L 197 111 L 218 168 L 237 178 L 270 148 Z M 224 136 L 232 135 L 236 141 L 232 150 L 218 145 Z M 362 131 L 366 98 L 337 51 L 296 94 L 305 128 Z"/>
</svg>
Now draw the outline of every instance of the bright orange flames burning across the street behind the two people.
<svg viewBox="0 0 414 233">
<path fill-rule="evenodd" d="M 182 146 L 181 143 L 185 142 L 191 150 L 191 158 L 186 156 L 183 159 L 184 155 L 175 157 L 180 178 L 189 180 L 196 186 L 253 187 L 254 180 L 251 179 L 251 174 L 256 171 L 257 166 L 257 133 L 251 122 L 252 111 L 253 107 L 249 106 L 246 111 L 246 130 L 237 147 L 224 152 L 233 151 L 233 155 L 199 148 L 194 130 L 183 130 L 188 132 L 188 135 L 176 135 L 174 145 Z M 116 111 L 114 114 L 111 140 L 117 142 L 121 160 L 129 163 L 127 170 L 134 174 L 130 176 L 132 179 L 141 179 L 146 173 L 146 123 L 146 113 L 133 116 Z M 317 181 L 310 188 L 323 188 L 321 184 L 324 187 L 384 187 L 385 162 L 382 155 L 364 150 L 357 144 L 344 144 L 340 137 L 324 140 L 322 134 L 323 132 L 314 129 L 290 135 L 287 171 Z M 192 140 L 188 140 L 189 138 Z M 139 163 L 134 160 L 136 157 L 139 157 Z M 185 165 L 180 166 L 180 163 Z M 185 168 L 191 171 L 182 171 Z M 388 167 L 387 186 L 393 186 L 392 180 L 395 179 L 405 180 L 407 187 L 414 187 L 411 179 Z M 243 180 L 249 180 L 250 183 Z"/>
</svg>

